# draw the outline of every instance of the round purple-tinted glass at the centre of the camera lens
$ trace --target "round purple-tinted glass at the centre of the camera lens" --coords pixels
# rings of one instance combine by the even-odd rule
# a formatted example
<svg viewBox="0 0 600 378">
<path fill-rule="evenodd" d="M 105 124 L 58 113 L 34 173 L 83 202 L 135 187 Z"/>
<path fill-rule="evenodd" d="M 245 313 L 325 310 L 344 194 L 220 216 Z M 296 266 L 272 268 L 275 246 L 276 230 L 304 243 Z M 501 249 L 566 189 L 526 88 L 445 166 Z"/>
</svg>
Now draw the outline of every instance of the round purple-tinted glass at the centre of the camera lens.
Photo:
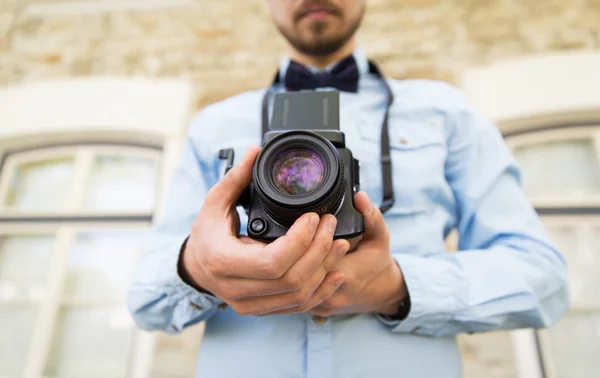
<svg viewBox="0 0 600 378">
<path fill-rule="evenodd" d="M 273 181 L 283 193 L 305 195 L 315 191 L 325 178 L 325 163 L 316 152 L 292 149 L 281 153 L 273 164 Z"/>
</svg>

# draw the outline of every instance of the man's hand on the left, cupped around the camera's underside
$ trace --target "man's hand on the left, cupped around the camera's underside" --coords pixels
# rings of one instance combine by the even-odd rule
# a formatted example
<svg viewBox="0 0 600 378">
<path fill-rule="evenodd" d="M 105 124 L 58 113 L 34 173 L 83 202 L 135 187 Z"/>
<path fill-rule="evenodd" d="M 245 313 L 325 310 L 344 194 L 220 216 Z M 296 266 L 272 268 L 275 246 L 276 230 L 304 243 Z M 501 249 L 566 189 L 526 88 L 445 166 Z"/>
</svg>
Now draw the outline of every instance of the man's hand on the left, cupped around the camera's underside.
<svg viewBox="0 0 600 378">
<path fill-rule="evenodd" d="M 207 194 L 183 251 L 187 276 L 242 315 L 309 311 L 343 283 L 334 272 L 350 248 L 333 240 L 337 220 L 304 214 L 286 235 L 265 244 L 238 237 L 236 202 L 251 183 L 259 152 L 253 146 Z"/>
</svg>

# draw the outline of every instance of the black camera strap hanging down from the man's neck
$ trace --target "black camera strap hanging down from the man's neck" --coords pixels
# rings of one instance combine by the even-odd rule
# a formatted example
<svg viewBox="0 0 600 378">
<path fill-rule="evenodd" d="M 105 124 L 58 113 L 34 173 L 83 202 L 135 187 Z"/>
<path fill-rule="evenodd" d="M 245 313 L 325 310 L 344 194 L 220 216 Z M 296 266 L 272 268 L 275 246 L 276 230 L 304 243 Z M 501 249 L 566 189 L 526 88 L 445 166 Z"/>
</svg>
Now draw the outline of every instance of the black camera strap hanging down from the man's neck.
<svg viewBox="0 0 600 378">
<path fill-rule="evenodd" d="M 383 124 L 381 125 L 381 178 L 382 178 L 382 191 L 383 200 L 379 209 L 382 213 L 386 213 L 394 205 L 394 185 L 392 181 L 392 157 L 390 155 L 390 136 L 388 132 L 388 120 L 389 113 L 392 103 L 394 102 L 394 94 L 387 83 L 387 80 L 381 73 L 379 67 L 375 62 L 369 60 L 369 73 L 377 76 L 383 82 L 387 95 L 387 103 L 385 109 L 385 116 L 383 118 Z M 269 100 L 275 91 L 275 85 L 280 82 L 279 71 L 275 75 L 273 84 L 266 91 L 262 99 L 262 135 L 265 135 L 269 131 Z"/>
</svg>

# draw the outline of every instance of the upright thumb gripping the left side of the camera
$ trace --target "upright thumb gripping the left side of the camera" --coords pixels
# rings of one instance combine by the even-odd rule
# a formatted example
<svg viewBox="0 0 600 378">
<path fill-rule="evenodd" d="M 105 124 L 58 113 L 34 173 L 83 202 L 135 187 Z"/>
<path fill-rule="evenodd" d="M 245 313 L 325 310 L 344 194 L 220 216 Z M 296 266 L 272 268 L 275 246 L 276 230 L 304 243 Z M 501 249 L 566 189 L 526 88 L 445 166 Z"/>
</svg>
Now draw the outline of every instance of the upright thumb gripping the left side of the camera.
<svg viewBox="0 0 600 378">
<path fill-rule="evenodd" d="M 221 212 L 229 211 L 229 208 L 237 203 L 244 190 L 252 182 L 252 168 L 259 152 L 258 146 L 248 148 L 242 161 L 233 166 L 209 190 L 204 200 L 204 206 Z"/>
</svg>

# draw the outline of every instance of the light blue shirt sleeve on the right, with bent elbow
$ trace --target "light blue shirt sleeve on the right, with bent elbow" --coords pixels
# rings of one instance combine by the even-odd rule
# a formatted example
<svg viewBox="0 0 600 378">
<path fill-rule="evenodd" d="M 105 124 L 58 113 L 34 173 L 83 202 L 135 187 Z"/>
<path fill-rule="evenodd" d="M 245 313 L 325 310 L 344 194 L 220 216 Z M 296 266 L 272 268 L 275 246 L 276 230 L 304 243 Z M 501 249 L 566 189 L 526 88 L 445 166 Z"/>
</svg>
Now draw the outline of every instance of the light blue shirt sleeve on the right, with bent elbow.
<svg viewBox="0 0 600 378">
<path fill-rule="evenodd" d="M 549 327 L 569 306 L 565 260 L 495 125 L 468 104 L 449 121 L 446 179 L 457 203 L 459 251 L 392 251 L 411 309 L 402 321 L 379 319 L 394 332 L 427 336 Z"/>
</svg>

